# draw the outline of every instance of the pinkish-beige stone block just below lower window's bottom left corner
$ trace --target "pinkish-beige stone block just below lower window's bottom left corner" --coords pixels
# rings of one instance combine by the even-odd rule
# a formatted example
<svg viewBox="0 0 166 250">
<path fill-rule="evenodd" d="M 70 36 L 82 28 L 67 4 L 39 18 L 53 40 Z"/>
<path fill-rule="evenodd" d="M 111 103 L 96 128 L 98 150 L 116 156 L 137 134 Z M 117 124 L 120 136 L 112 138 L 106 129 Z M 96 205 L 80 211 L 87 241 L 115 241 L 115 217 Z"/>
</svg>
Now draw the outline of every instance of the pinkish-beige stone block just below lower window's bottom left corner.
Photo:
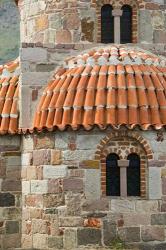
<svg viewBox="0 0 166 250">
<path fill-rule="evenodd" d="M 109 201 L 108 199 L 98 199 L 93 201 L 85 201 L 82 205 L 83 211 L 108 211 Z"/>
</svg>

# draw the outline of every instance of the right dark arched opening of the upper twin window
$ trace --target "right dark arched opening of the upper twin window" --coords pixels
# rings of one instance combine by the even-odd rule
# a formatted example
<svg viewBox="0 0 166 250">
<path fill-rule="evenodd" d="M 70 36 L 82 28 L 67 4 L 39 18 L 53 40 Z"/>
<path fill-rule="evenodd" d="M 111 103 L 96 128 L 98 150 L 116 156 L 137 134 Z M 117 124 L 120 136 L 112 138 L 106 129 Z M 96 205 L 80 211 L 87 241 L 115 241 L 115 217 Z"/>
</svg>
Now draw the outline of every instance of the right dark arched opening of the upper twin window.
<svg viewBox="0 0 166 250">
<path fill-rule="evenodd" d="M 122 7 L 123 14 L 120 18 L 121 43 L 132 43 L 132 8 L 129 5 Z"/>
</svg>

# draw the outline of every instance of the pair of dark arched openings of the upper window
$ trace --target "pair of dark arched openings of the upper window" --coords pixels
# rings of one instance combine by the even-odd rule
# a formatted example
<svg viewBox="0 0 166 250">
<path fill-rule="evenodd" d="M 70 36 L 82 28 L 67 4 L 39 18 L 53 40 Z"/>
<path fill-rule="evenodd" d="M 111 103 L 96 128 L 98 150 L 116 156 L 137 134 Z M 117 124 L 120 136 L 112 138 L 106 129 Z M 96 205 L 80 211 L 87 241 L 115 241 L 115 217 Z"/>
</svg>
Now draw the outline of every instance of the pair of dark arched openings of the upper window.
<svg viewBox="0 0 166 250">
<path fill-rule="evenodd" d="M 101 8 L 101 42 L 114 43 L 114 17 L 113 7 L 105 4 Z M 123 14 L 120 17 L 121 43 L 132 43 L 132 7 L 123 5 Z M 115 30 L 116 32 L 116 30 Z"/>
</svg>

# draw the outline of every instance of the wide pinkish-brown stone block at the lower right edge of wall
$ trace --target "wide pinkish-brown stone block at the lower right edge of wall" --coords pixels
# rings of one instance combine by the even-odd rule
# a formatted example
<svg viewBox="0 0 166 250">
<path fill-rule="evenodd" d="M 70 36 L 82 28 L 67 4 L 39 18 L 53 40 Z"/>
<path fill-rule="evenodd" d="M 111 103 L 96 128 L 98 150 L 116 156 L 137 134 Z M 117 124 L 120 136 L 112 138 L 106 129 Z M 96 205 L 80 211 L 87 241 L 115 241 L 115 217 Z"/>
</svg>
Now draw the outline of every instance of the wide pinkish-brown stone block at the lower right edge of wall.
<svg viewBox="0 0 166 250">
<path fill-rule="evenodd" d="M 164 226 L 146 226 L 141 228 L 141 237 L 143 241 L 164 241 L 165 231 Z"/>
</svg>

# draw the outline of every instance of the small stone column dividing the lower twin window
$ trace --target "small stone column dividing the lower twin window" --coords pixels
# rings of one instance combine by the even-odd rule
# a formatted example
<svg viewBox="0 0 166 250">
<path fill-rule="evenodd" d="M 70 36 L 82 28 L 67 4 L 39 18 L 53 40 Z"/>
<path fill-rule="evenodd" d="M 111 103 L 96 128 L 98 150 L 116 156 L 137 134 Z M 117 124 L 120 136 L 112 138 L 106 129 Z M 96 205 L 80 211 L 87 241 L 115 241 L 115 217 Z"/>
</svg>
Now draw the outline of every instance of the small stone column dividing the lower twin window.
<svg viewBox="0 0 166 250">
<path fill-rule="evenodd" d="M 127 167 L 129 161 L 119 160 L 118 166 L 120 167 L 120 196 L 127 197 Z"/>
</svg>

